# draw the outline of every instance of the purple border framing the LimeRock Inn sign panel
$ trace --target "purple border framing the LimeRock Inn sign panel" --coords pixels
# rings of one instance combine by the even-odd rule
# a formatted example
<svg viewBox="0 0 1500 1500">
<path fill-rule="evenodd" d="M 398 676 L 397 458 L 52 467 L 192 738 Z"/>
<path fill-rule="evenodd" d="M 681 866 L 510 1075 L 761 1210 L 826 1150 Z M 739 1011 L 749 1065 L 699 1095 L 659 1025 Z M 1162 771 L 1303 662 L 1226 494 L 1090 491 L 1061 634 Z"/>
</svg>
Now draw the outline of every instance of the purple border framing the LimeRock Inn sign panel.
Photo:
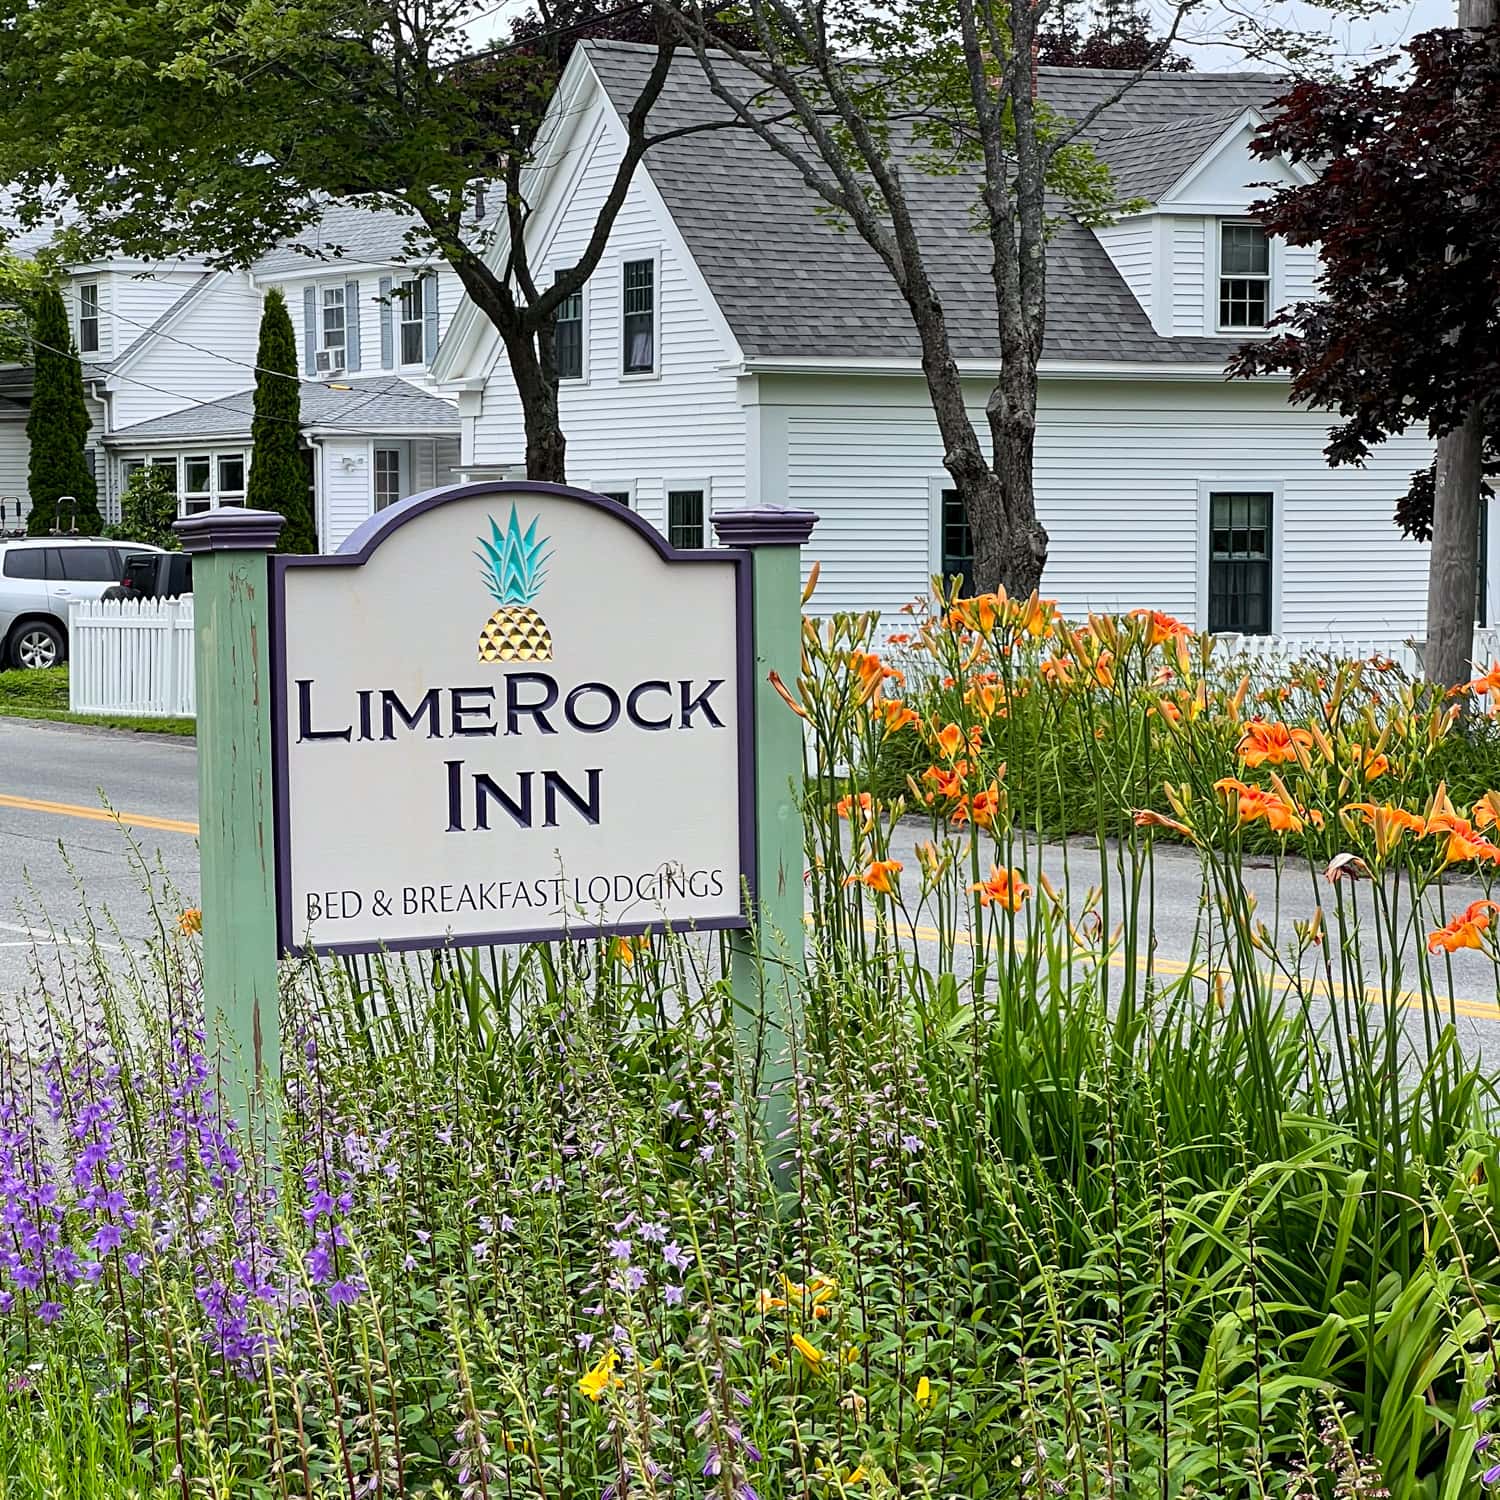
<svg viewBox="0 0 1500 1500">
<path fill-rule="evenodd" d="M 572 500 L 594 510 L 604 512 L 610 520 L 624 522 L 644 540 L 650 542 L 666 562 L 710 562 L 735 572 L 735 668 L 736 682 L 735 712 L 738 716 L 740 772 L 740 880 L 747 909 L 753 909 L 756 897 L 756 766 L 754 766 L 754 609 L 753 609 L 753 555 L 746 548 L 704 548 L 684 550 L 674 548 L 648 520 L 642 520 L 628 506 L 604 495 L 594 495 L 568 484 L 549 484 L 530 480 L 492 480 L 472 484 L 448 484 L 442 489 L 408 495 L 386 510 L 376 512 L 362 522 L 338 552 L 310 556 L 270 558 L 270 668 L 272 668 L 272 822 L 276 840 L 276 939 L 284 956 L 306 957 L 358 952 L 420 952 L 434 948 L 484 948 L 526 942 L 573 942 L 591 938 L 636 938 L 645 932 L 662 930 L 662 920 L 618 924 L 568 924 L 532 927 L 524 932 L 476 933 L 441 938 L 404 938 L 386 942 L 330 942 L 306 944 L 296 938 L 296 915 L 291 908 L 291 808 L 286 784 L 286 750 L 290 744 L 290 712 L 286 699 L 286 573 L 306 567 L 362 567 L 408 520 L 446 506 L 454 500 L 472 500 L 478 495 L 550 495 Z M 710 916 L 704 921 L 682 922 L 682 932 L 742 932 L 750 927 L 746 910 L 738 916 Z"/>
</svg>

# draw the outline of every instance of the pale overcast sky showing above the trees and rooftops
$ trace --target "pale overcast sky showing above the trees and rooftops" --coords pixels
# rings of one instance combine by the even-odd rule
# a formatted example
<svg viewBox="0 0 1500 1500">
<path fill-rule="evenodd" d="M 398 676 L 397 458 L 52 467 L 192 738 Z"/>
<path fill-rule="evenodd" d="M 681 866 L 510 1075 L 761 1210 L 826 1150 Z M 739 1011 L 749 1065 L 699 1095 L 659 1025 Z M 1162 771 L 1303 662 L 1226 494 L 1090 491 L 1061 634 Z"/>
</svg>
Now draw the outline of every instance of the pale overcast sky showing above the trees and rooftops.
<svg viewBox="0 0 1500 1500">
<path fill-rule="evenodd" d="M 1350 0 L 1348 9 L 1362 0 Z M 477 46 L 504 39 L 510 22 L 531 9 L 531 0 L 478 0 L 480 9 L 466 30 Z M 1174 14 L 1173 0 L 1144 0 L 1156 26 L 1168 26 Z M 1230 40 L 1236 27 L 1270 26 L 1308 36 L 1326 38 L 1328 56 L 1341 66 L 1372 62 L 1401 46 L 1407 38 L 1432 27 L 1452 26 L 1455 0 L 1413 0 L 1388 3 L 1368 20 L 1348 20 L 1311 0 L 1200 0 L 1179 27 L 1182 51 L 1198 69 L 1266 69 L 1274 58 L 1246 60 L 1245 48 Z"/>
</svg>

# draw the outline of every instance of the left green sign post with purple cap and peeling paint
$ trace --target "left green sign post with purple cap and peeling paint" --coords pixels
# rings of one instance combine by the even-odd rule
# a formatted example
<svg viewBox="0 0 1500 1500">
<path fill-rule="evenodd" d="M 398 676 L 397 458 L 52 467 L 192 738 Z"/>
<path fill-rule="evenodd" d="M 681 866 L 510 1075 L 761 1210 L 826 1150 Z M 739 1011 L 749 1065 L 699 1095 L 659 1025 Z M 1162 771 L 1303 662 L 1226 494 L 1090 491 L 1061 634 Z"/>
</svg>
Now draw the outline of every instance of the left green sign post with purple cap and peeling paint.
<svg viewBox="0 0 1500 1500">
<path fill-rule="evenodd" d="M 270 568 L 285 518 L 225 506 L 176 524 L 192 554 L 204 1023 L 232 1044 L 225 1100 L 267 1146 L 280 1076 L 272 826 Z"/>
</svg>

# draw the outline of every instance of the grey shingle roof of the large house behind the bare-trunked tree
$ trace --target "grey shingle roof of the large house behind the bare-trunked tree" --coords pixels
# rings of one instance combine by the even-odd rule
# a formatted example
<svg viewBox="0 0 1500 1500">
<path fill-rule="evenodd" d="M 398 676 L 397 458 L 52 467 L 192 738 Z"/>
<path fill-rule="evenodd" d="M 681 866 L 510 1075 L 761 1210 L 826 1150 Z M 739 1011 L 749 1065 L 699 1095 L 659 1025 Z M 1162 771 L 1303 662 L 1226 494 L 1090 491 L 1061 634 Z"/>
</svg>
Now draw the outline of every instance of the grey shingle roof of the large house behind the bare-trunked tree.
<svg viewBox="0 0 1500 1500">
<path fill-rule="evenodd" d="M 654 48 L 584 45 L 615 108 L 627 111 Z M 1054 110 L 1080 120 L 1130 76 L 1044 68 L 1040 92 Z M 1264 105 L 1282 90 L 1268 74 L 1154 74 L 1106 110 L 1088 134 L 1102 142 L 1110 132 L 1160 130 L 1191 117 L 1191 128 L 1168 132 L 1176 160 L 1179 146 L 1185 150 L 1186 141 L 1209 129 L 1208 118 L 1220 122 L 1212 141 L 1228 116 Z M 724 106 L 698 63 L 680 54 L 651 112 L 652 129 L 723 118 Z M 1130 144 L 1137 164 L 1131 172 L 1140 177 L 1143 153 L 1138 142 Z M 748 357 L 916 357 L 910 315 L 874 252 L 852 231 L 830 224 L 792 165 L 754 135 L 728 129 L 681 136 L 652 147 L 646 170 Z M 994 302 L 987 243 L 974 231 L 975 180 L 916 170 L 906 180 L 954 354 L 993 360 Z M 1221 363 L 1238 346 L 1233 339 L 1158 336 L 1094 232 L 1071 219 L 1048 243 L 1047 270 L 1048 358 Z"/>
</svg>

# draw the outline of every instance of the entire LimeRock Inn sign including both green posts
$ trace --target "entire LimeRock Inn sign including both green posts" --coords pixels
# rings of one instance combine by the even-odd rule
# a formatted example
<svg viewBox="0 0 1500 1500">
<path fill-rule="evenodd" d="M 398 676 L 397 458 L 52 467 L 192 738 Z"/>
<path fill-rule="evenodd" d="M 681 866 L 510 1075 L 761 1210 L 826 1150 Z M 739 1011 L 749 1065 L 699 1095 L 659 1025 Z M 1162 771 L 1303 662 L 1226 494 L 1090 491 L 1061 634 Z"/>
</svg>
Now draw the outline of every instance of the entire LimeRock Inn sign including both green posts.
<svg viewBox="0 0 1500 1500">
<path fill-rule="evenodd" d="M 800 670 L 814 524 L 730 512 L 723 546 L 680 550 L 540 483 L 414 495 L 328 556 L 270 556 L 282 518 L 264 512 L 177 522 L 204 1008 L 252 1108 L 279 1077 L 279 954 L 669 928 L 734 934 L 735 996 L 776 1064 L 762 1083 L 784 1083 L 802 735 L 766 678 Z"/>
</svg>

